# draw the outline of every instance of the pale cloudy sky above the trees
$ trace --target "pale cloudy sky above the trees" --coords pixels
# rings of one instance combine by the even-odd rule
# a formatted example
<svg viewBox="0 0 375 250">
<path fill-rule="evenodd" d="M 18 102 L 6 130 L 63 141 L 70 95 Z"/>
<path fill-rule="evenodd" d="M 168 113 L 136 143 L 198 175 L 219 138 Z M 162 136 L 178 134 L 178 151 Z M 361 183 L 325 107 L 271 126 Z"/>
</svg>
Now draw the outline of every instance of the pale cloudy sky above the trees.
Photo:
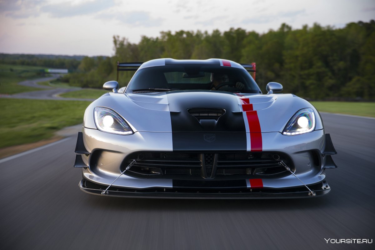
<svg viewBox="0 0 375 250">
<path fill-rule="evenodd" d="M 138 43 L 160 31 L 267 33 L 315 22 L 375 19 L 375 0 L 0 0 L 0 52 L 112 56 L 113 36 Z"/>
</svg>

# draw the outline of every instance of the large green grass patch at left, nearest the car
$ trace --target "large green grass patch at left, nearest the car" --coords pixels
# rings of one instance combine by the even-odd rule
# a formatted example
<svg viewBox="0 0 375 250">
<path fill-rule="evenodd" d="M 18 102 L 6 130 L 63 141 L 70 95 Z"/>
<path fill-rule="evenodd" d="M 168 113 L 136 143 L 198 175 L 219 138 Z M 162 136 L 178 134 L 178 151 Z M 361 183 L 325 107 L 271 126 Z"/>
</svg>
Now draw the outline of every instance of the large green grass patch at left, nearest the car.
<svg viewBox="0 0 375 250">
<path fill-rule="evenodd" d="M 0 148 L 51 138 L 83 121 L 87 101 L 0 99 Z"/>
</svg>

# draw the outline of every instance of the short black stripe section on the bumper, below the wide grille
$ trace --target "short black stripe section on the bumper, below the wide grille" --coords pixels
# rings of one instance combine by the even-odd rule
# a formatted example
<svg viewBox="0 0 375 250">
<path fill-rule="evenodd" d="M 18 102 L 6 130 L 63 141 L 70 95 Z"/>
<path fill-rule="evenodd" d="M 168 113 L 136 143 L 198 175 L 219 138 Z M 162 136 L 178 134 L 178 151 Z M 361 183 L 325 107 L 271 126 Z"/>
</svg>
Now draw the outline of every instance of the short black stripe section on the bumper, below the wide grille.
<svg viewBox="0 0 375 250">
<path fill-rule="evenodd" d="M 225 181 L 196 181 L 196 180 L 172 180 L 173 188 L 189 189 L 230 189 L 246 188 L 246 180 L 225 180 Z"/>
</svg>

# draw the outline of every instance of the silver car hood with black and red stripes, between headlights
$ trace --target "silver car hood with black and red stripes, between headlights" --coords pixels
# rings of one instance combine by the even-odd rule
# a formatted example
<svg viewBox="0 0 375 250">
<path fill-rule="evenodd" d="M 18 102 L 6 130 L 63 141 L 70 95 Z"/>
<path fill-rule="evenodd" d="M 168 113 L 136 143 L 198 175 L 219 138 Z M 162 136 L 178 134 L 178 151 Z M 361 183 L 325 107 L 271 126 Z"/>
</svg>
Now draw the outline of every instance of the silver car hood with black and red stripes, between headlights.
<svg viewBox="0 0 375 250">
<path fill-rule="evenodd" d="M 260 125 L 257 132 L 282 132 L 290 118 L 302 108 L 313 108 L 319 120 L 309 102 L 292 94 L 210 90 L 107 93 L 87 108 L 85 127 L 96 128 L 93 121 L 96 106 L 113 109 L 134 131 L 148 132 L 244 132 L 246 126 L 254 122 Z M 249 117 L 252 118 L 249 120 Z"/>
</svg>

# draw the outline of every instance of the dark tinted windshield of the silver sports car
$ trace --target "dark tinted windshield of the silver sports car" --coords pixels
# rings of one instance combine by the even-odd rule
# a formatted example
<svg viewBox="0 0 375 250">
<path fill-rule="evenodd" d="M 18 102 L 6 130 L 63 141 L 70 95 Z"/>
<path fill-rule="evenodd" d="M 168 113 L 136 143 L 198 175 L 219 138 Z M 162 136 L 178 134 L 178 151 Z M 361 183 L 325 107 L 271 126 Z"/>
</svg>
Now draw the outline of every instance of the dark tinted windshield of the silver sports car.
<svg viewBox="0 0 375 250">
<path fill-rule="evenodd" d="M 257 83 L 244 69 L 207 65 L 167 65 L 138 70 L 126 93 L 170 90 L 219 90 L 261 93 Z"/>
</svg>

